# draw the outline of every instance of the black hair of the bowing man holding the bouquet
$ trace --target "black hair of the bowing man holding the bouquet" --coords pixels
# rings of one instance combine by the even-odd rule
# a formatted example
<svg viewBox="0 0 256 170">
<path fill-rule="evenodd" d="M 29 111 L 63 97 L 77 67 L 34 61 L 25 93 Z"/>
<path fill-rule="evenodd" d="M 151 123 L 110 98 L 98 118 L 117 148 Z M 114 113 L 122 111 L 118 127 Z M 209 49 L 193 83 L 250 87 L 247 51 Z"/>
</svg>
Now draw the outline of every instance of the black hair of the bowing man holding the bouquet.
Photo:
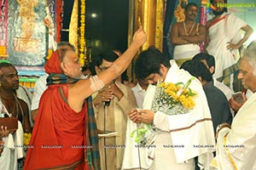
<svg viewBox="0 0 256 170">
<path fill-rule="evenodd" d="M 150 74 L 160 73 L 160 64 L 170 68 L 169 59 L 154 46 L 149 47 L 138 55 L 135 64 L 135 75 L 137 78 L 145 79 Z"/>
</svg>

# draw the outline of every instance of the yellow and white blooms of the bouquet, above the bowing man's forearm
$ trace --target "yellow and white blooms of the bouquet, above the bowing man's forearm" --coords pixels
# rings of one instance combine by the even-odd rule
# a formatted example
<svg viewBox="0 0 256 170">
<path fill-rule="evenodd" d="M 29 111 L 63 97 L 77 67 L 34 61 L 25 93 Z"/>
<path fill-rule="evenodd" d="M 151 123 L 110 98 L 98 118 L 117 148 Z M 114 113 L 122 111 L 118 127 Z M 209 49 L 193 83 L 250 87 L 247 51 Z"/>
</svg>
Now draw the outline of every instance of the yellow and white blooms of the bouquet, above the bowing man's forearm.
<svg viewBox="0 0 256 170">
<path fill-rule="evenodd" d="M 152 104 L 153 111 L 162 111 L 167 115 L 178 115 L 188 113 L 195 107 L 194 98 L 196 93 L 191 90 L 189 84 L 195 77 L 183 82 L 160 82 L 157 85 Z M 183 85 L 183 86 L 181 86 Z"/>
</svg>

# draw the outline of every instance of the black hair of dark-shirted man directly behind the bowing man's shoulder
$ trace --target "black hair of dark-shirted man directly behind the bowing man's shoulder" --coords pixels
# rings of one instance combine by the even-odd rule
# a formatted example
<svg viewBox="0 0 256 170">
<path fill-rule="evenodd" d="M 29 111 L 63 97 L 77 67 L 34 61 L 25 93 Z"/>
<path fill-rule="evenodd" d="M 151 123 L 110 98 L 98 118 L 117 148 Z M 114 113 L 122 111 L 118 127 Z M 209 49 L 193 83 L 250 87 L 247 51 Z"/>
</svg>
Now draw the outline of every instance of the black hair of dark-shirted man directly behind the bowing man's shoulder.
<svg viewBox="0 0 256 170">
<path fill-rule="evenodd" d="M 212 74 L 208 71 L 207 66 L 198 60 L 187 60 L 181 66 L 180 69 L 189 71 L 190 75 L 194 77 L 201 77 L 202 81 L 211 82 Z"/>
</svg>

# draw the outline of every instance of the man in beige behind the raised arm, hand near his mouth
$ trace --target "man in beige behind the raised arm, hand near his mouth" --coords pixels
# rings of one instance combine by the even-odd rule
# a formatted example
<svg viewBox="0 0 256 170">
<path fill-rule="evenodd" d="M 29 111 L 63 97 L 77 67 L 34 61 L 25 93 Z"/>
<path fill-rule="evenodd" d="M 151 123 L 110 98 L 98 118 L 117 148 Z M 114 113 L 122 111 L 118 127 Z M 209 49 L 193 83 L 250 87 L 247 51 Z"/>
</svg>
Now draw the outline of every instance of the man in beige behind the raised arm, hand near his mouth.
<svg viewBox="0 0 256 170">
<path fill-rule="evenodd" d="M 119 55 L 111 50 L 100 54 L 96 59 L 96 74 L 108 69 L 113 64 L 113 61 L 118 58 Z M 118 78 L 116 77 L 116 80 Z M 127 114 L 131 108 L 136 107 L 136 99 L 132 94 L 131 88 L 126 87 L 116 80 L 107 84 L 95 94 L 94 96 L 96 97 L 92 101 L 98 129 L 117 132 L 117 135 L 114 137 L 105 137 L 105 144 L 103 138 L 99 139 L 101 167 L 103 170 L 121 168 L 125 149 L 124 132 L 126 129 Z M 107 159 L 105 161 L 106 157 Z"/>
</svg>

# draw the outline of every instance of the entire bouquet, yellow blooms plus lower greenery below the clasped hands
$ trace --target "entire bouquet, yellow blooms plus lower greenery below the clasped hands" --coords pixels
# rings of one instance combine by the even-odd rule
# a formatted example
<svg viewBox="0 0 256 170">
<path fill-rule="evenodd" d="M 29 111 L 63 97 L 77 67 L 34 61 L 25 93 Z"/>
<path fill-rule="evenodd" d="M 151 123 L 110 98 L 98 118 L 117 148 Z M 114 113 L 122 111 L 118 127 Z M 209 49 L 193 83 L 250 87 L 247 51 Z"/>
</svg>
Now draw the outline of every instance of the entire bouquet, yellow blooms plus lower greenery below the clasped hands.
<svg viewBox="0 0 256 170">
<path fill-rule="evenodd" d="M 152 102 L 152 111 L 162 111 L 167 115 L 178 115 L 189 113 L 195 107 L 194 98 L 197 95 L 189 84 L 195 79 L 192 77 L 186 84 L 183 82 L 159 82 L 155 90 Z M 135 142 L 142 145 L 150 145 L 157 136 L 158 129 L 154 124 L 142 123 L 131 133 Z"/>
</svg>

